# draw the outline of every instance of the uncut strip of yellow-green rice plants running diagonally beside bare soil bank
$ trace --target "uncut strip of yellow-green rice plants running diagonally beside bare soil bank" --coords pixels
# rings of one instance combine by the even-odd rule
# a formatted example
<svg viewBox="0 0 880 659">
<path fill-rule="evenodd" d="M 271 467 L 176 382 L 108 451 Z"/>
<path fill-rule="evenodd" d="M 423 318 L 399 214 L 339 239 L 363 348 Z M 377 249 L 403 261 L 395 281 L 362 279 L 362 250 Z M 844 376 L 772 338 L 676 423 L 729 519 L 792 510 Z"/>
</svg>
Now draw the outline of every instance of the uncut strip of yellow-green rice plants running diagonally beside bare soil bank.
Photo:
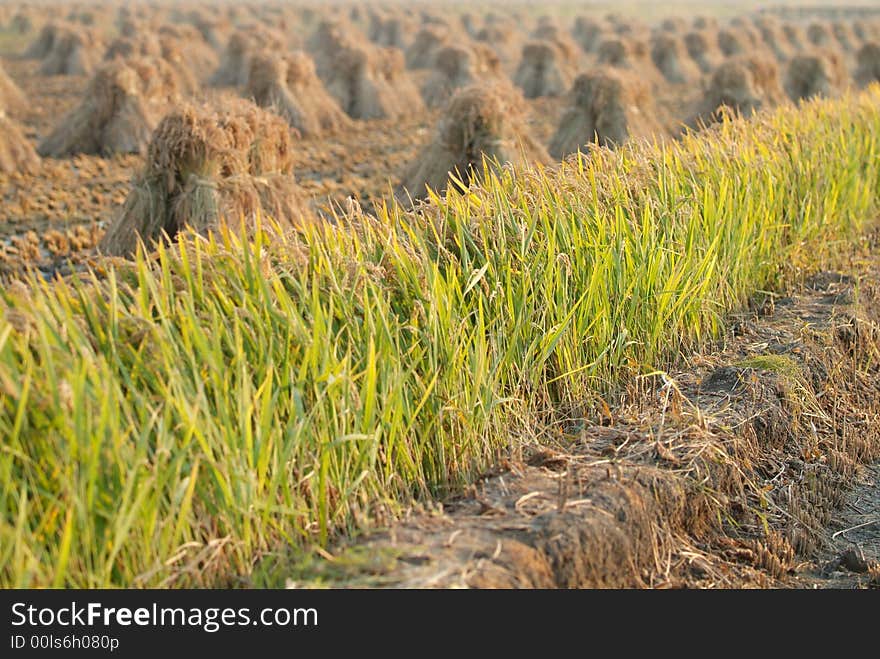
<svg viewBox="0 0 880 659">
<path fill-rule="evenodd" d="M 872 89 L 9 286 L 0 585 L 248 585 L 442 496 L 850 251 L 878 155 Z"/>
</svg>

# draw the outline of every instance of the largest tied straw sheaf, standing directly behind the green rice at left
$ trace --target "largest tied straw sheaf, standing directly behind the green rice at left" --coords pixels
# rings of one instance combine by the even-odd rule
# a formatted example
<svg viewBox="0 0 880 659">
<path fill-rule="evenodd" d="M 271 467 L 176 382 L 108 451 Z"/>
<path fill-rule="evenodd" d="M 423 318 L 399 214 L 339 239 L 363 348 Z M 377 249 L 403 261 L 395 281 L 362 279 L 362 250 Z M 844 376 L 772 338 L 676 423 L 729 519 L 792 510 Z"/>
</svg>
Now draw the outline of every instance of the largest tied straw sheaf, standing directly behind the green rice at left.
<svg viewBox="0 0 880 659">
<path fill-rule="evenodd" d="M 100 249 L 132 255 L 140 240 L 207 233 L 259 219 L 295 226 L 310 217 L 293 177 L 293 143 L 283 119 L 238 101 L 223 111 L 185 106 L 159 124 L 120 214 Z"/>
</svg>

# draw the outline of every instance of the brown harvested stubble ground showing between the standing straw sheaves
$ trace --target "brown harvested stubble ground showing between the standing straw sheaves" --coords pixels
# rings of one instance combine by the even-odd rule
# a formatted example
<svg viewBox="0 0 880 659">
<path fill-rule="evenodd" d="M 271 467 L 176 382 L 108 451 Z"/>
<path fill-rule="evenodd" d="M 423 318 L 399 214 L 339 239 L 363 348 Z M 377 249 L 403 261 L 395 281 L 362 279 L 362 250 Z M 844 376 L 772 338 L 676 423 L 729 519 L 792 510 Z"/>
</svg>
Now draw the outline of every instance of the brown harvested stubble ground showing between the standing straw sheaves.
<svg viewBox="0 0 880 659">
<path fill-rule="evenodd" d="M 628 7 L 626 11 L 629 15 L 638 15 L 636 9 Z M 730 10 L 724 3 L 709 9 L 710 12 L 721 17 L 727 16 Z M 579 49 L 573 40 L 577 35 L 574 33 L 573 36 L 569 35 L 569 32 L 574 30 L 573 24 L 577 14 L 565 3 L 554 5 L 551 10 L 553 13 L 549 17 L 538 17 L 530 11 L 518 9 L 515 12 L 521 19 L 518 25 L 509 24 L 508 19 L 501 19 L 499 24 L 504 25 L 509 46 L 495 42 L 479 42 L 478 39 L 481 38 L 478 29 L 481 22 L 479 17 L 471 30 L 472 33 L 455 26 L 454 20 L 451 21 L 451 34 L 454 35 L 451 41 L 455 42 L 456 30 L 458 30 L 457 37 L 466 47 L 478 42 L 495 47 L 505 71 L 504 76 L 514 79 L 520 65 L 520 51 L 523 45 L 529 39 L 538 38 L 535 35 L 539 32 L 536 31 L 539 31 L 542 25 L 552 26 L 551 31 L 543 33 L 548 37 L 541 36 L 541 39 L 559 38 L 569 43 L 566 47 L 574 47 L 569 55 L 572 58 L 571 72 L 566 78 L 565 86 L 578 71 L 607 66 L 603 64 L 601 54 Z M 395 16 L 394 11 L 396 10 L 388 10 L 389 20 Z M 603 11 L 601 7 L 597 8 L 589 17 L 601 20 L 603 16 L 601 11 Z M 94 23 L 85 27 L 101 44 L 112 42 L 120 34 L 114 12 L 113 9 L 106 10 L 92 19 Z M 683 16 L 694 13 L 692 8 L 687 7 L 683 7 L 682 12 Z M 14 118 L 20 121 L 25 134 L 36 145 L 58 125 L 67 112 L 80 103 L 91 75 L 44 75 L 40 73 L 39 59 L 22 59 L 21 55 L 35 41 L 41 26 L 51 22 L 49 13 L 41 8 L 31 10 L 30 14 L 25 10 L 25 15 L 32 16 L 32 23 L 26 31 L 15 28 L 11 17 L 6 19 L 5 26 L 0 26 L 0 66 L 19 85 L 28 100 L 26 110 Z M 152 20 L 152 25 L 161 26 L 170 22 L 172 15 L 167 11 L 158 12 L 155 18 L 146 16 L 144 21 Z M 382 16 L 381 13 L 376 15 Z M 455 13 L 452 15 L 456 16 Z M 226 41 L 235 33 L 237 25 L 250 25 L 257 20 L 258 24 L 265 27 L 272 26 L 273 21 L 279 20 L 274 17 L 275 15 L 268 13 L 257 12 L 255 16 L 256 19 L 248 15 L 248 12 L 241 11 L 231 20 L 220 21 L 223 27 L 217 32 L 218 43 L 214 48 L 216 57 L 222 56 Z M 321 20 L 339 18 L 342 16 L 342 10 L 335 14 L 329 10 L 318 12 L 300 19 L 295 18 L 297 16 L 295 11 L 290 11 L 285 16 L 287 17 L 285 20 L 289 23 L 298 21 L 295 28 L 287 28 L 291 43 L 303 44 L 308 42 L 309 35 Z M 375 23 L 378 19 L 369 18 L 368 14 L 363 12 L 358 16 L 359 18 L 352 22 L 354 29 L 360 31 L 362 36 L 374 36 L 370 34 L 371 30 L 374 30 L 370 21 Z M 486 17 L 498 20 L 497 16 L 491 18 L 489 10 Z M 852 20 L 849 17 L 844 18 Z M 74 22 L 75 20 L 74 17 Z M 138 20 L 141 19 L 138 18 L 135 22 Z M 645 17 L 645 21 L 648 20 L 659 22 L 660 19 L 650 13 L 650 16 Z M 797 17 L 792 20 L 802 21 L 805 25 L 808 19 Z M 823 18 L 823 20 L 827 19 Z M 482 22 L 489 27 L 492 25 L 486 22 L 486 19 Z M 146 22 L 144 24 L 146 25 Z M 653 97 L 653 107 L 642 108 L 642 111 L 655 115 L 657 123 L 652 130 L 657 131 L 657 136 L 662 138 L 673 135 L 700 105 L 704 95 L 702 88 L 709 84 L 708 80 L 692 79 L 681 83 L 664 80 L 647 52 L 650 50 L 653 38 L 652 30 L 656 33 L 657 24 L 642 23 L 637 19 L 621 19 L 621 25 L 625 27 L 619 28 L 618 31 L 626 35 L 622 43 L 629 44 L 625 47 L 645 49 L 644 53 L 635 56 L 629 64 L 625 64 L 626 67 L 635 66 L 638 77 L 642 78 L 650 88 L 649 95 Z M 143 29 L 149 33 L 151 28 Z M 417 29 L 417 23 L 407 24 L 401 37 L 402 49 L 405 50 L 413 45 Z M 606 32 L 597 37 L 597 43 L 602 38 L 612 41 L 618 39 L 613 30 L 605 29 Z M 673 34 L 681 38 L 681 31 L 688 29 L 687 23 L 682 23 L 675 29 L 679 32 Z M 558 36 L 553 36 L 554 34 Z M 714 39 L 714 33 L 711 31 L 707 32 L 707 36 L 710 41 Z M 381 37 L 374 38 L 379 40 L 378 43 L 381 45 Z M 97 53 L 100 53 L 101 47 L 101 45 L 97 47 Z M 714 49 L 715 46 L 713 45 L 712 48 Z M 764 48 L 765 45 L 761 44 L 758 50 L 763 52 Z M 842 52 L 842 56 L 845 67 L 848 70 L 854 69 L 853 53 Z M 784 62 L 780 63 L 780 67 L 784 68 Z M 430 77 L 431 71 L 409 69 L 405 75 L 420 87 Z M 190 99 L 223 105 L 229 99 L 242 95 L 246 94 L 241 88 L 211 88 L 202 80 L 200 88 L 190 95 Z M 532 135 L 539 143 L 548 144 L 569 106 L 569 99 L 561 95 L 524 99 L 522 102 L 526 110 L 526 122 Z M 442 105 L 433 110 L 414 108 L 401 117 L 393 119 L 354 121 L 351 128 L 337 135 L 299 138 L 294 153 L 297 181 L 311 198 L 312 205 L 316 209 L 326 210 L 331 202 L 344 202 L 349 197 L 357 199 L 362 206 L 369 208 L 376 200 L 388 199 L 391 196 L 391 190 L 400 182 L 407 165 L 418 157 L 420 151 L 432 139 L 442 115 Z M 649 133 L 643 131 L 642 134 Z M 0 173 L 0 189 L 3 191 L 3 203 L 0 204 L 2 272 L 8 276 L 20 272 L 23 268 L 36 266 L 46 276 L 50 276 L 58 269 L 64 272 L 68 260 L 77 262 L 91 254 L 107 223 L 118 214 L 130 188 L 132 175 L 142 167 L 142 164 L 143 161 L 137 154 L 116 157 L 75 155 L 61 159 L 43 158 L 39 170 L 34 173 Z"/>
</svg>

